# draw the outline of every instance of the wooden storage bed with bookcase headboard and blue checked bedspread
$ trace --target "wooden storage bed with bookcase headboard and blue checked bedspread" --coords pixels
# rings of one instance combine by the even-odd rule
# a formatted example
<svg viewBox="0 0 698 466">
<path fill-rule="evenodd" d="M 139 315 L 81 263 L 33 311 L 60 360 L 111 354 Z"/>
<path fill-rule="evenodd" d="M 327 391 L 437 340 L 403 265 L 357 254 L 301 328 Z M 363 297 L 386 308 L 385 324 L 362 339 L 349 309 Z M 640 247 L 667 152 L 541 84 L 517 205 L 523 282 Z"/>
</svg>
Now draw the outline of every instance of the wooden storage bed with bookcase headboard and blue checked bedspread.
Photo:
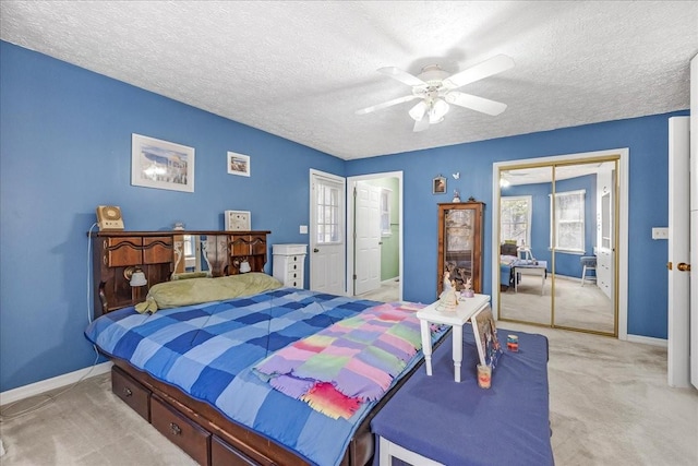
<svg viewBox="0 0 698 466">
<path fill-rule="evenodd" d="M 216 252 L 219 273 L 186 280 L 168 279 L 181 259 L 176 252 L 181 234 L 96 235 L 94 273 L 101 315 L 85 335 L 113 361 L 115 394 L 200 464 L 370 464 L 375 449 L 371 419 L 420 366 L 421 350 L 406 351 L 409 358 L 389 384 L 384 378 L 382 391 L 341 415 L 281 393 L 269 381 L 275 377 L 261 373 L 263 362 L 365 315 L 398 313 L 402 330 L 395 334 L 402 335 L 412 323 L 409 314 L 421 304 L 284 287 L 263 273 L 266 234 L 206 232 L 225 244 Z M 242 260 L 252 273 L 239 273 Z M 147 290 L 130 286 L 130 267 L 145 273 Z M 230 285 L 240 279 L 258 286 Z M 236 296 L 212 291 L 210 280 L 226 283 Z M 188 302 L 191 292 L 172 299 L 173 287 L 196 288 L 193 301 L 206 296 L 224 299 Z M 445 333 L 434 328 L 433 342 L 440 344 Z M 322 402 L 333 409 L 340 405 L 332 397 Z"/>
</svg>

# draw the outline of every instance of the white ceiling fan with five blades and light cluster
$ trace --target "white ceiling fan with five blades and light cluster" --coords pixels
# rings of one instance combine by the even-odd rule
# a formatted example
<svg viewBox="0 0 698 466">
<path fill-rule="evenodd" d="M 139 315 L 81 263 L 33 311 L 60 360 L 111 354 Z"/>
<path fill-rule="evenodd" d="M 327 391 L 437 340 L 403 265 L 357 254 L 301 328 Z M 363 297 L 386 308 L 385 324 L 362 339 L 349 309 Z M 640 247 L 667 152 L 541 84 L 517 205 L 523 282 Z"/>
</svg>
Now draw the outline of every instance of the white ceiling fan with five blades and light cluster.
<svg viewBox="0 0 698 466">
<path fill-rule="evenodd" d="M 492 116 L 500 115 L 506 109 L 506 104 L 456 89 L 466 84 L 474 83 L 476 81 L 506 71 L 513 67 L 514 60 L 510 57 L 497 55 L 456 74 L 449 74 L 437 64 L 430 64 L 422 68 L 422 72 L 417 76 L 395 67 L 380 68 L 380 73 L 386 74 L 408 86 L 412 86 L 412 95 L 362 108 L 361 110 L 357 110 L 357 115 L 371 113 L 394 105 L 420 99 L 420 101 L 409 110 L 410 117 L 414 120 L 414 132 L 424 131 L 430 124 L 443 121 L 444 116 L 450 108 L 449 104 Z"/>
</svg>

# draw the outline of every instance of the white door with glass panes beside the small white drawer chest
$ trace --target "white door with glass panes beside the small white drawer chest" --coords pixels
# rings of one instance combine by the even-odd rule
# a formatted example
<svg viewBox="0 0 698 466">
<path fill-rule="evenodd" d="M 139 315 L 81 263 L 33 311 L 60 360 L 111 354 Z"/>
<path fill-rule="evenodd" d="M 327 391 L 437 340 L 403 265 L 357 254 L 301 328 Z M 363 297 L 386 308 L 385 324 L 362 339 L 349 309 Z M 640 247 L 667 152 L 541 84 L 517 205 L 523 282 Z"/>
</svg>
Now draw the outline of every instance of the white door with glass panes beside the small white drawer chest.
<svg viewBox="0 0 698 466">
<path fill-rule="evenodd" d="M 310 175 L 310 289 L 345 295 L 345 179 Z"/>
</svg>

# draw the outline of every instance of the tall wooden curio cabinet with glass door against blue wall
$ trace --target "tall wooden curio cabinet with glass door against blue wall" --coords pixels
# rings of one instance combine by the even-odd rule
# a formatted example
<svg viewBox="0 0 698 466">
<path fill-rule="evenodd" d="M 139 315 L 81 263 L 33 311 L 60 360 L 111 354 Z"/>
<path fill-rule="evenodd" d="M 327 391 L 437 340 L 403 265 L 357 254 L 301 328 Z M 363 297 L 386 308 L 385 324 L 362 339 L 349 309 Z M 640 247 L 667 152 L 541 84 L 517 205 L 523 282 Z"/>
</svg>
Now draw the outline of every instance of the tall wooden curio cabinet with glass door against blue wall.
<svg viewBox="0 0 698 466">
<path fill-rule="evenodd" d="M 444 272 L 453 267 L 456 288 L 472 279 L 474 292 L 482 292 L 482 202 L 438 204 L 437 296 L 443 290 Z"/>
</svg>

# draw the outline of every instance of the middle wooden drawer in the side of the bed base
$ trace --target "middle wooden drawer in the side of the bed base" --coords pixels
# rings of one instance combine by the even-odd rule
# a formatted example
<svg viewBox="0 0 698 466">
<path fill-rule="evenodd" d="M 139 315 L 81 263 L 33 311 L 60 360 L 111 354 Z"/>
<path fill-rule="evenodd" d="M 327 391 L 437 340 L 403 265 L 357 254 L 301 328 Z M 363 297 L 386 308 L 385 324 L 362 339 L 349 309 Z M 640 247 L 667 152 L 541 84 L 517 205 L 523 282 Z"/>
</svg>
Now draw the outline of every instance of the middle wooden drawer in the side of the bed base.
<svg viewBox="0 0 698 466">
<path fill-rule="evenodd" d="M 167 405 L 157 395 L 151 401 L 151 423 L 200 465 L 210 465 L 210 433 Z"/>
</svg>

